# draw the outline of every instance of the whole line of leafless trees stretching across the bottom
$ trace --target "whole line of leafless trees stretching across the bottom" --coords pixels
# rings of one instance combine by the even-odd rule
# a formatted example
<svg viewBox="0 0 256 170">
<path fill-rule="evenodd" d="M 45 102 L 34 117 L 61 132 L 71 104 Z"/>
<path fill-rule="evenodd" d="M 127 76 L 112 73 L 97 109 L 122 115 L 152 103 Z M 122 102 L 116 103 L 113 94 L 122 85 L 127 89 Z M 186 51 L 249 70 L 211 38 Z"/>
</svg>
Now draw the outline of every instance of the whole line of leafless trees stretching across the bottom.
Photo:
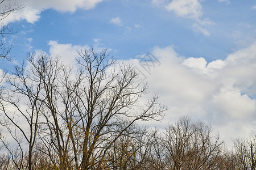
<svg viewBox="0 0 256 170">
<path fill-rule="evenodd" d="M 167 107 L 148 100 L 132 65 L 107 50 L 80 49 L 77 65 L 28 54 L 0 91 L 0 169 L 255 169 L 255 138 L 225 149 L 209 124 L 181 117 L 165 130 Z M 143 99 L 143 100 L 142 100 Z"/>
</svg>

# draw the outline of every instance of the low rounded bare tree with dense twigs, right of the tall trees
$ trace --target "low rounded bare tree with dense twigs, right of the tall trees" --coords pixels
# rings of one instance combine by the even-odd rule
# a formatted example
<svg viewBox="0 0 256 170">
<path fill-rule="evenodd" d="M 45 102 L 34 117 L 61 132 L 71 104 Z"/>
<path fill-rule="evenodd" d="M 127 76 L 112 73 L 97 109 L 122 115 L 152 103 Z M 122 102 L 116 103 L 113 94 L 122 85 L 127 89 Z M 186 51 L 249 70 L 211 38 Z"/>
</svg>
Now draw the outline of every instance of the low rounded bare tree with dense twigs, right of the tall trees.
<svg viewBox="0 0 256 170">
<path fill-rule="evenodd" d="M 162 135 L 156 135 L 155 141 L 154 169 L 216 169 L 222 142 L 203 122 L 182 117 Z"/>
</svg>

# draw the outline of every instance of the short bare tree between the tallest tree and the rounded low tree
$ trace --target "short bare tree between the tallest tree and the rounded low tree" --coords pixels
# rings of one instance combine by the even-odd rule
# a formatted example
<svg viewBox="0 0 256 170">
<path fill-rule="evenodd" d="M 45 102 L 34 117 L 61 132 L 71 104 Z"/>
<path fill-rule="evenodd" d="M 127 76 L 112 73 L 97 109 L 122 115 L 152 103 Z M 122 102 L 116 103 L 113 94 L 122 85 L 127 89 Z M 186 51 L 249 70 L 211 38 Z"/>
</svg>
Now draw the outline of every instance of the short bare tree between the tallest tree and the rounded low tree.
<svg viewBox="0 0 256 170">
<path fill-rule="evenodd" d="M 131 126 L 108 150 L 104 164 L 110 169 L 147 169 L 151 137 L 147 129 Z"/>
</svg>

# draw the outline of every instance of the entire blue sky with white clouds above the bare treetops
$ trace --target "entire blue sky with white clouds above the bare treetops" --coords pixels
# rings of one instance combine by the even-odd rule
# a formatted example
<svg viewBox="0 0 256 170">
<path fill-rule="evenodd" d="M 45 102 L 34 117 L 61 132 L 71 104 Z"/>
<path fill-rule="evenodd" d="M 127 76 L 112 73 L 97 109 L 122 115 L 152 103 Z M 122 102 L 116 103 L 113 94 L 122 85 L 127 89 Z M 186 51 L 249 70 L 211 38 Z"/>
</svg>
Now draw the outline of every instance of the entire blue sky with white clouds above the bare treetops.
<svg viewBox="0 0 256 170">
<path fill-rule="evenodd" d="M 72 64 L 81 47 L 106 48 L 133 63 L 170 108 L 146 125 L 166 128 L 187 115 L 212 124 L 228 145 L 256 134 L 255 0 L 15 2 L 23 8 L 1 21 L 15 32 L 5 37 L 14 61 L 1 60 L 1 70 L 28 52 Z"/>
</svg>

